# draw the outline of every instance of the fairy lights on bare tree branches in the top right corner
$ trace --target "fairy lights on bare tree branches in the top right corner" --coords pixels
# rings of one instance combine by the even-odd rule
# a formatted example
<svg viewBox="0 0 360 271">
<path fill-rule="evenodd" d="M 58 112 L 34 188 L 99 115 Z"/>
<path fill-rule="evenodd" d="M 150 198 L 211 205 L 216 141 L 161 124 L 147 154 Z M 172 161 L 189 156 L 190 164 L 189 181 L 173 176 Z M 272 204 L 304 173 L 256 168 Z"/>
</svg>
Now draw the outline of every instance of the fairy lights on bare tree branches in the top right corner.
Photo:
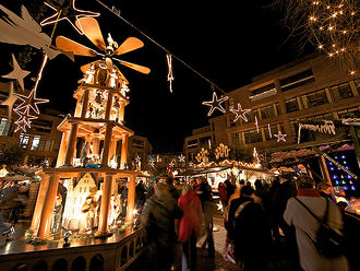
<svg viewBox="0 0 360 271">
<path fill-rule="evenodd" d="M 310 42 L 332 59 L 338 59 L 348 73 L 359 72 L 358 0 L 275 0 L 284 21 L 300 46 Z"/>
</svg>

